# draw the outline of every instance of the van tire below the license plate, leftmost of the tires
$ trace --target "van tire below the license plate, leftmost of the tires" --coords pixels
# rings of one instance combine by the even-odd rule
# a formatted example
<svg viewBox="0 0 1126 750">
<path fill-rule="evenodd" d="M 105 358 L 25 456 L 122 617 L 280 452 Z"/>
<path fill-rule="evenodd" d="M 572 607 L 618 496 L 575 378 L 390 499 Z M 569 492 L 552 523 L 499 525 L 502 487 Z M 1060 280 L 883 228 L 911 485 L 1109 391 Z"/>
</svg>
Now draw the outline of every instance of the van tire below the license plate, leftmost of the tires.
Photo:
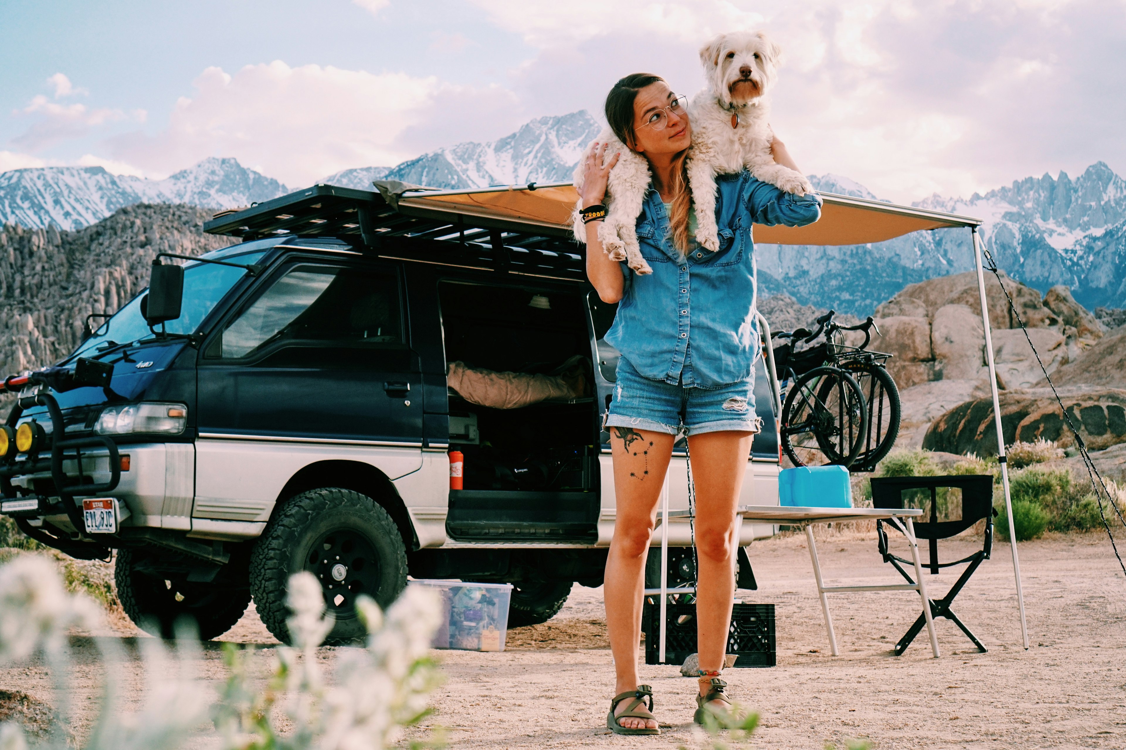
<svg viewBox="0 0 1126 750">
<path fill-rule="evenodd" d="M 158 638 L 176 638 L 184 621 L 195 621 L 199 640 L 209 641 L 231 630 L 250 604 L 247 557 L 231 561 L 211 582 L 166 580 L 137 570 L 151 553 L 123 548 L 114 562 L 114 582 L 122 608 L 137 627 Z M 180 597 L 177 600 L 177 596 Z"/>
</svg>

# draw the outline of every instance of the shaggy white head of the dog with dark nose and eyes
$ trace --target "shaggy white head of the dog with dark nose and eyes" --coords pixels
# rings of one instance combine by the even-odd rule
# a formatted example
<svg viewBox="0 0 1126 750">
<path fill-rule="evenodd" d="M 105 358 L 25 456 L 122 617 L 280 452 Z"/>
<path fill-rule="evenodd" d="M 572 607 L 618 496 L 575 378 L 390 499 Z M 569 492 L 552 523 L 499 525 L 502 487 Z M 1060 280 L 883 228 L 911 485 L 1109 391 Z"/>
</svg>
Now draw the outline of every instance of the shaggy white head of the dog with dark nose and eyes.
<svg viewBox="0 0 1126 750">
<path fill-rule="evenodd" d="M 700 48 L 712 93 L 725 105 L 745 105 L 774 85 L 781 49 L 762 31 L 721 34 Z"/>
</svg>

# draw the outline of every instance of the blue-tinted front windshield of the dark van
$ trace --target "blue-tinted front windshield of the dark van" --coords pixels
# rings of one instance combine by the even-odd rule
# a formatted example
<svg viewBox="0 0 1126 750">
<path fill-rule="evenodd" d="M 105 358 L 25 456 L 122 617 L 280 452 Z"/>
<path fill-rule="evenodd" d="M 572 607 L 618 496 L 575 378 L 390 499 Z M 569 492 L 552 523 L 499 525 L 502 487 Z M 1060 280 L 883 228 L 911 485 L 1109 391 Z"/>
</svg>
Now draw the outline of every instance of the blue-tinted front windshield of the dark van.
<svg viewBox="0 0 1126 750">
<path fill-rule="evenodd" d="M 265 253 L 245 253 L 223 260 L 250 264 L 257 263 L 262 255 Z M 220 300 L 234 286 L 234 282 L 241 279 L 244 273 L 243 269 L 230 265 L 189 264 L 184 270 L 184 306 L 180 317 L 166 324 L 168 333 L 195 333 L 207 314 L 218 305 Z M 92 349 L 104 346 L 108 342 L 126 344 L 151 336 L 152 331 L 149 329 L 149 324 L 141 315 L 141 299 L 146 293 L 148 289 L 117 310 L 114 317 L 106 320 L 92 336 L 83 341 L 71 356 L 74 358 Z"/>
</svg>

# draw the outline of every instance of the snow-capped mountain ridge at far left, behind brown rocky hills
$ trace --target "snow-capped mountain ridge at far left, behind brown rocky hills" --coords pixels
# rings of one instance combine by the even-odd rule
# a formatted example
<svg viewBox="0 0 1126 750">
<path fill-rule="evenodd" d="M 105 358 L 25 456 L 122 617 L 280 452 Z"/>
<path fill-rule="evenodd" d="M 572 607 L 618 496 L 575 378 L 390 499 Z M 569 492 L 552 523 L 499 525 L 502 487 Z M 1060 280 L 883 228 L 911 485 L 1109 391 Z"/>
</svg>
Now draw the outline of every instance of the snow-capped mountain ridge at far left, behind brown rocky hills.
<svg viewBox="0 0 1126 750">
<path fill-rule="evenodd" d="M 166 180 L 110 174 L 100 166 L 47 166 L 0 174 L 0 224 L 78 229 L 133 204 L 247 206 L 289 192 L 234 159 L 205 159 Z"/>
</svg>

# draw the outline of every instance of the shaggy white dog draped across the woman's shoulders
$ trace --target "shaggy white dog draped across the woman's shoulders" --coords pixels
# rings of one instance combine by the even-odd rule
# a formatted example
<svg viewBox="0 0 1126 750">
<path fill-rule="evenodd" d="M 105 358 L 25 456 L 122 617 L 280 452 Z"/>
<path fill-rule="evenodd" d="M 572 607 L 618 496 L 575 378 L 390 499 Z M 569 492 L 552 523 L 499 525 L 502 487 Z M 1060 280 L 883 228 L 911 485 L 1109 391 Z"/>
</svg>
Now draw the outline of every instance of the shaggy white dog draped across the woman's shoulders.
<svg viewBox="0 0 1126 750">
<path fill-rule="evenodd" d="M 700 48 L 708 85 L 689 106 L 692 145 L 687 170 L 696 207 L 696 241 L 707 250 L 720 249 L 715 224 L 716 174 L 747 168 L 757 179 L 786 192 L 802 196 L 813 191 L 802 173 L 775 163 L 770 154 L 774 132 L 767 119 L 767 92 L 775 83 L 779 54 L 778 45 L 761 31 L 721 34 Z M 598 142 L 608 144 L 607 155 L 622 154 L 610 172 L 607 217 L 598 229 L 598 238 L 611 260 L 627 261 L 637 273 L 652 273 L 641 256 L 634 231 L 650 182 L 649 163 L 609 129 L 599 134 Z M 582 177 L 580 162 L 574 173 L 577 188 L 582 187 Z M 579 242 L 586 242 L 578 208 L 581 206 L 574 213 L 574 235 Z"/>
</svg>

